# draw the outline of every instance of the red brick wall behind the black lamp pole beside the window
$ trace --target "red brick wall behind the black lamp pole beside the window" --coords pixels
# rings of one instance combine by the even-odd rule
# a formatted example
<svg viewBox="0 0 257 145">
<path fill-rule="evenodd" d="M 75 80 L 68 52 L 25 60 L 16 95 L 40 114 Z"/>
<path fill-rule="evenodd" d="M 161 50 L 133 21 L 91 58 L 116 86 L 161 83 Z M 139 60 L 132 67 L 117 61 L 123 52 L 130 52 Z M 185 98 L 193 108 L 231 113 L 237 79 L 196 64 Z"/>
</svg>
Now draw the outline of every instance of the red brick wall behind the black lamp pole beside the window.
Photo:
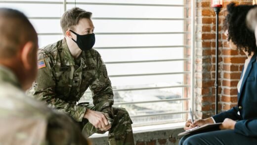
<svg viewBox="0 0 257 145">
<path fill-rule="evenodd" d="M 218 112 L 237 104 L 236 86 L 246 59 L 244 53 L 229 48 L 221 29 L 230 2 L 252 4 L 253 0 L 224 0 L 219 13 Z M 215 110 L 215 12 L 211 0 L 197 0 L 196 8 L 195 115 L 207 118 Z"/>
</svg>

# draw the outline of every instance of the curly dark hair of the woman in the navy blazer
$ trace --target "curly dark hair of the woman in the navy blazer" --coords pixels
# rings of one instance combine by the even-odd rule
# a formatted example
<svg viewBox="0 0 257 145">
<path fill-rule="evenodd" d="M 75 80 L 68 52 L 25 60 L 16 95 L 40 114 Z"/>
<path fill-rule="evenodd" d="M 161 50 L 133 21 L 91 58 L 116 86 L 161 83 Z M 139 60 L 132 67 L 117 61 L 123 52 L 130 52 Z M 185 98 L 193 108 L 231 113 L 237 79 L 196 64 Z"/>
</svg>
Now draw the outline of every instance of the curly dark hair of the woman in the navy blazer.
<svg viewBox="0 0 257 145">
<path fill-rule="evenodd" d="M 257 52 L 255 34 L 246 26 L 248 11 L 257 5 L 227 5 L 227 16 L 224 29 L 228 30 L 228 41 L 231 40 L 238 49 L 244 49 L 249 53 Z"/>
</svg>

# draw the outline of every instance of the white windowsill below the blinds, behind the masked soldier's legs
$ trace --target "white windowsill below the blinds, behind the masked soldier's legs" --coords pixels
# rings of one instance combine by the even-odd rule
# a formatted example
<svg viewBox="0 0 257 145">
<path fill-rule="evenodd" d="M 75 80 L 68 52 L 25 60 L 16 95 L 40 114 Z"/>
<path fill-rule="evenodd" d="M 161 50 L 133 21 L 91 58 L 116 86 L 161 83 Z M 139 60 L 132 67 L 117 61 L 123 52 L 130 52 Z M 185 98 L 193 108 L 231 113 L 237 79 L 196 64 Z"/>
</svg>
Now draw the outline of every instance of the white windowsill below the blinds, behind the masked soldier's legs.
<svg viewBox="0 0 257 145">
<path fill-rule="evenodd" d="M 183 128 L 185 125 L 185 122 L 178 122 L 178 123 L 169 123 L 169 124 L 162 124 L 162 125 L 149 125 L 149 126 L 141 126 L 141 127 L 133 127 L 133 134 L 136 133 L 144 133 L 144 132 L 154 132 L 154 131 L 160 131 L 160 130 L 171 130 L 171 129 L 177 129 L 177 128 Z M 101 138 L 101 137 L 107 137 L 108 132 L 105 134 L 93 134 L 89 138 Z"/>
</svg>

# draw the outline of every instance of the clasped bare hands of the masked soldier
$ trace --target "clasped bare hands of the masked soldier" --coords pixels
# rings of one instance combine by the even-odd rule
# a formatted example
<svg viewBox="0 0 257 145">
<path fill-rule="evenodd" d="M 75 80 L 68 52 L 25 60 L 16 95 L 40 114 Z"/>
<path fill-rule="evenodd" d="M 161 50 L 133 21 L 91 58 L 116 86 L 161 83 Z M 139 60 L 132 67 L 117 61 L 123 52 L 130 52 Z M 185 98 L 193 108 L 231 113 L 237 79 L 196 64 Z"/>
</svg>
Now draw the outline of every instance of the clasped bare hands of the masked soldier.
<svg viewBox="0 0 257 145">
<path fill-rule="evenodd" d="M 86 118 L 95 128 L 106 129 L 106 126 L 109 125 L 108 120 L 102 112 L 86 109 L 84 118 Z"/>
</svg>

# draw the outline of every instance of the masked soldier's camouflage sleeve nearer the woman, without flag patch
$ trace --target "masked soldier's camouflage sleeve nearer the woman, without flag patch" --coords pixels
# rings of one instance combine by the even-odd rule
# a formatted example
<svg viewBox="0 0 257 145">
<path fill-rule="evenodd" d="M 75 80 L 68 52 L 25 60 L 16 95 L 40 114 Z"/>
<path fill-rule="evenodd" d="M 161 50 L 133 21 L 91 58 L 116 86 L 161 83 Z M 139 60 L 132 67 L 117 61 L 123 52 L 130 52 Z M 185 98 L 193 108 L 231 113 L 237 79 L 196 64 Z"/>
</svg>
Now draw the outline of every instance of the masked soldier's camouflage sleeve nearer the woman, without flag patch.
<svg viewBox="0 0 257 145">
<path fill-rule="evenodd" d="M 93 104 L 96 110 L 107 113 L 108 117 L 113 118 L 113 90 L 106 66 L 99 54 L 97 57 L 96 74 L 89 88 L 92 92 Z"/>
</svg>

